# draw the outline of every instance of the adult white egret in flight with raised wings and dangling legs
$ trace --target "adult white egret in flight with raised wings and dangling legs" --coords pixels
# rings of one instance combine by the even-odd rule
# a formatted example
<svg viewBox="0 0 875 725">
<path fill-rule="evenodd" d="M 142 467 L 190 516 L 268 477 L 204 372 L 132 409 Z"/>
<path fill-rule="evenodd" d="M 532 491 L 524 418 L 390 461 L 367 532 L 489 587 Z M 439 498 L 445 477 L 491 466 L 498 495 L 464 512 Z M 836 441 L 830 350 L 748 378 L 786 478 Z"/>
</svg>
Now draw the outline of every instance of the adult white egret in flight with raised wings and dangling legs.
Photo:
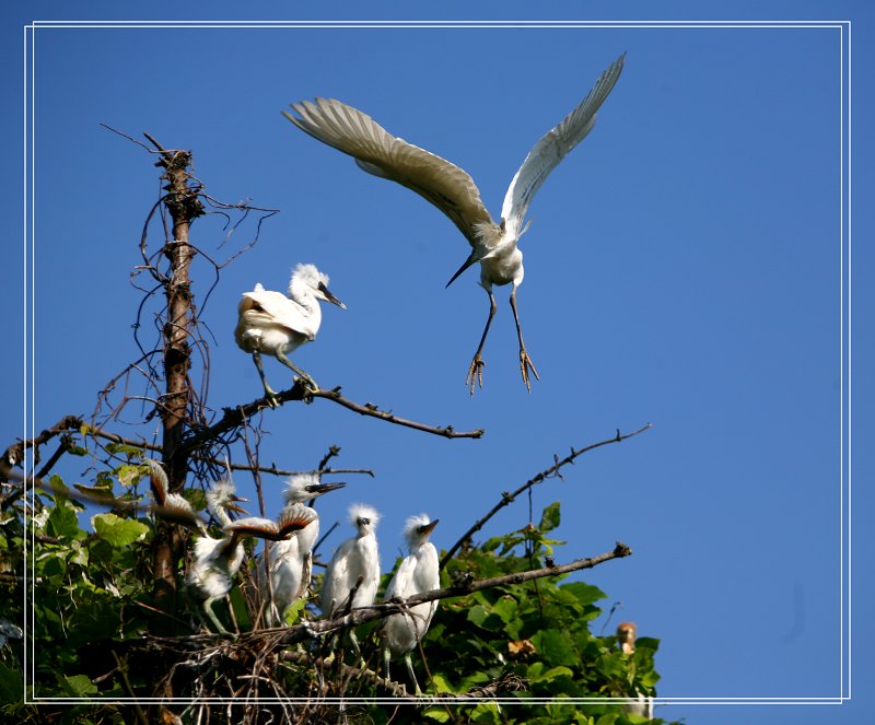
<svg viewBox="0 0 875 725">
<path fill-rule="evenodd" d="M 580 105 L 532 148 L 504 196 L 500 223 L 492 220 L 480 200 L 480 190 L 465 171 L 393 136 L 361 110 L 334 98 L 316 98 L 315 103 L 304 101 L 292 104 L 298 116 L 283 112 L 303 131 L 353 156 L 365 172 L 397 182 L 424 197 L 444 212 L 468 239 L 471 253 L 446 287 L 468 267 L 480 262 L 480 285 L 489 295 L 489 317 L 465 379 L 471 395 L 475 384 L 480 387 L 483 384 L 485 362 L 480 353 L 495 314 L 493 284 L 513 283 L 511 308 L 520 340 L 523 382 L 530 391 L 529 370 L 540 379 L 526 352 L 516 312 L 516 288 L 523 282 L 523 253 L 517 242 L 532 223 L 529 220 L 523 225 L 523 220 L 532 199 L 550 172 L 593 129 L 596 110 L 620 77 L 625 59 L 626 54 L 615 60 Z"/>
</svg>

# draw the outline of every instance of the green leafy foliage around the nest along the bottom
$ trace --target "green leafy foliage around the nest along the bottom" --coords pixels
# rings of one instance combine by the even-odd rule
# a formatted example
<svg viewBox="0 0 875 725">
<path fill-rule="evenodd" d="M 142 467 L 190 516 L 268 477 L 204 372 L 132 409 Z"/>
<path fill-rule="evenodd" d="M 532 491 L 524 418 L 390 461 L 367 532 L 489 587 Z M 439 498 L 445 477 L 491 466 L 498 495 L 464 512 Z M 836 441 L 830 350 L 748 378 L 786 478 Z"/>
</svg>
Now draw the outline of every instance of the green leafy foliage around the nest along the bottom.
<svg viewBox="0 0 875 725">
<path fill-rule="evenodd" d="M 136 475 L 120 467 L 114 476 L 136 483 Z M 129 511 L 98 513 L 91 517 L 93 530 L 80 525 L 81 504 L 65 495 L 63 484 L 54 481 L 55 495 L 40 493 L 39 511 L 32 517 L 34 546 L 31 548 L 30 576 L 34 584 L 33 638 L 35 682 L 33 695 L 40 698 L 128 698 L 151 694 L 159 679 L 173 687 L 175 697 L 198 694 L 195 681 L 211 694 L 233 694 L 253 667 L 252 653 L 237 651 L 233 643 L 214 644 L 212 638 L 197 640 L 177 652 L 156 656 L 143 646 L 148 634 L 151 606 L 149 548 L 154 525 Z M 550 504 L 540 525 L 528 525 L 503 536 L 492 537 L 477 547 L 467 547 L 451 560 L 443 572 L 444 585 L 464 577 L 485 578 L 537 568 L 551 557 L 561 542 L 548 538 L 560 523 L 559 503 Z M 21 517 L 7 515 L 2 562 L 21 576 L 24 560 Z M 179 584 L 184 573 L 180 562 Z M 385 586 L 389 574 L 384 575 Z M 241 583 L 231 593 L 235 621 L 242 629 L 257 621 L 257 603 L 249 588 L 250 572 L 244 568 Z M 21 580 L 3 578 L 5 594 L 16 603 L 9 612 L 19 621 Z M 481 699 L 470 704 L 442 703 L 406 708 L 394 713 L 393 722 L 477 722 L 477 723 L 587 723 L 591 725 L 631 725 L 646 722 L 627 713 L 619 703 L 581 703 L 592 697 L 634 697 L 652 694 L 658 680 L 654 669 L 657 640 L 640 639 L 633 654 L 622 654 L 614 636 L 597 636 L 592 623 L 603 615 L 598 603 L 606 595 L 584 582 L 560 577 L 541 578 L 524 584 L 509 584 L 441 601 L 431 629 L 422 643 L 422 657 L 416 656 L 418 678 L 428 694 L 438 698 L 470 693 Z M 197 601 L 189 600 L 191 632 L 199 623 L 194 612 Z M 219 608 L 230 621 L 231 612 Z M 180 616 L 185 616 L 180 612 Z M 292 619 L 312 618 L 312 608 L 299 607 Z M 370 670 L 380 662 L 378 623 L 360 628 L 363 656 Z M 357 669 L 358 657 L 341 639 L 335 662 L 324 658 L 332 648 L 330 641 L 313 642 L 305 651 L 270 653 L 269 679 L 277 691 L 293 697 L 345 694 L 350 698 L 385 697 L 380 678 Z M 0 658 L 0 692 L 8 704 L 0 706 L 4 717 L 20 722 L 104 723 L 129 722 L 132 713 L 124 705 L 75 704 L 56 709 L 24 706 L 20 701 L 23 663 L 22 640 L 9 640 Z M 192 650 L 194 647 L 194 650 Z M 191 668 L 192 651 L 208 653 L 202 667 Z M 287 656 L 288 655 L 288 656 Z M 261 653 L 264 657 L 264 653 Z M 180 657 L 189 667 L 167 676 L 179 666 Z M 266 660 L 267 662 L 267 660 Z M 341 666 L 341 663 L 343 665 Z M 265 665 L 267 667 L 267 665 Z M 266 670 L 267 671 L 267 670 Z M 404 681 L 402 667 L 393 669 Z M 194 678 L 194 679 L 192 679 Z M 202 694 L 202 691 L 200 692 Z M 390 693 L 389 693 L 390 694 Z M 501 706 L 489 698 L 516 698 L 518 704 Z M 549 704 L 527 702 L 528 698 L 556 698 Z M 486 698 L 486 699 L 483 699 Z M 569 699 L 562 703 L 561 699 Z M 19 700 L 15 703 L 15 700 Z M 287 703 L 268 705 L 265 716 L 276 716 L 277 709 L 290 722 L 331 722 L 338 716 L 334 705 Z M 185 713 L 183 722 L 188 717 Z M 393 709 L 381 705 L 350 705 L 349 722 L 384 723 Z M 258 718 L 252 722 L 259 722 Z M 265 721 L 266 722 L 266 721 Z M 661 721 L 654 721 L 661 722 Z"/>
</svg>

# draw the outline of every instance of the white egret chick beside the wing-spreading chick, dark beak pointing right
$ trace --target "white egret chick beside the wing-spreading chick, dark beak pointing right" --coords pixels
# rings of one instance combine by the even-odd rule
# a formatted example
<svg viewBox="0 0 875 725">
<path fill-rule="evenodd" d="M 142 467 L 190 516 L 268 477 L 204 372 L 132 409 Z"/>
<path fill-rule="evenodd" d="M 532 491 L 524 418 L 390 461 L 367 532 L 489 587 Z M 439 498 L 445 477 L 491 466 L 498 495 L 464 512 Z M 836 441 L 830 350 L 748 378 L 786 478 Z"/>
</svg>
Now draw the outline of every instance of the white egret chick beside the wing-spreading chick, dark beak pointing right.
<svg viewBox="0 0 875 725">
<path fill-rule="evenodd" d="M 315 473 L 298 473 L 289 478 L 285 488 L 287 507 L 303 505 L 310 499 L 345 486 L 346 483 L 322 483 Z M 311 512 L 313 523 L 294 536 L 266 547 L 270 562 L 270 590 L 265 576 L 265 553 L 259 554 L 256 560 L 255 574 L 261 597 L 268 601 L 271 593 L 273 596 L 268 620 L 278 625 L 285 622 L 289 607 L 306 593 L 313 571 L 313 545 L 319 538 L 319 516 L 314 508 L 303 507 Z"/>
</svg>

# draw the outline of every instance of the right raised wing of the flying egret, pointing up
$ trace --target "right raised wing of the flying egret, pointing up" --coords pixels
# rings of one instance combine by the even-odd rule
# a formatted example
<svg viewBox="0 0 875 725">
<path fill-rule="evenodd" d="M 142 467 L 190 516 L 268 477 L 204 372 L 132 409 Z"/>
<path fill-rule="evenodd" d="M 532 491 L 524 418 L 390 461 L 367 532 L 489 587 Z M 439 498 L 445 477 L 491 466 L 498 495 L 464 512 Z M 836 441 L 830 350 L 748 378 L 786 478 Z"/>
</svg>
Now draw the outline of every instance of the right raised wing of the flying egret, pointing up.
<svg viewBox="0 0 875 725">
<path fill-rule="evenodd" d="M 596 84 L 562 121 L 547 131 L 528 152 L 523 165 L 511 182 L 504 203 L 501 207 L 501 218 L 505 227 L 514 236 L 523 229 L 523 218 L 526 215 L 528 204 L 544 184 L 550 172 L 557 167 L 571 150 L 578 145 L 595 126 L 595 112 L 607 98 L 614 84 L 622 72 L 626 54 L 615 60 L 602 73 Z"/>
</svg>

